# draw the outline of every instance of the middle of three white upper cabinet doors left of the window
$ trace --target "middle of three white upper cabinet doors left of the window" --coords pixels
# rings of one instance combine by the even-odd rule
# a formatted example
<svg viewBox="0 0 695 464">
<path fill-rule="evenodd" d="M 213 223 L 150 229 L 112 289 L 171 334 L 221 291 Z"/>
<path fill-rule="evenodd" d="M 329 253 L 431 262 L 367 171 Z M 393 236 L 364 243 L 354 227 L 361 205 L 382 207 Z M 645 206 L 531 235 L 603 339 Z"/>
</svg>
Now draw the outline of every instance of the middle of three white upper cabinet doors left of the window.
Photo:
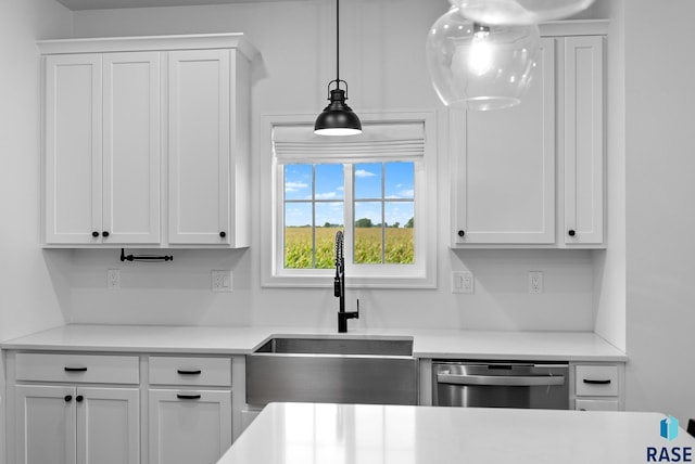
<svg viewBox="0 0 695 464">
<path fill-rule="evenodd" d="M 104 54 L 104 243 L 161 241 L 159 52 Z"/>
</svg>

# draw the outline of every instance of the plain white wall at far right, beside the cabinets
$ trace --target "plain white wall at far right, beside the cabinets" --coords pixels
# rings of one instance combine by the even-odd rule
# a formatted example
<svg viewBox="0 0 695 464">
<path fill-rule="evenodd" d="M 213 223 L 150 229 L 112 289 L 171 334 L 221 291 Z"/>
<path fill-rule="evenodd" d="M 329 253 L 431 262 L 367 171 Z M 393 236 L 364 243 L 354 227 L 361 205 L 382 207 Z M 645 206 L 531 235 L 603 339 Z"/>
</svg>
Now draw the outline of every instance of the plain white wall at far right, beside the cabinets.
<svg viewBox="0 0 695 464">
<path fill-rule="evenodd" d="M 624 1 L 627 407 L 695 417 L 695 2 Z"/>
</svg>

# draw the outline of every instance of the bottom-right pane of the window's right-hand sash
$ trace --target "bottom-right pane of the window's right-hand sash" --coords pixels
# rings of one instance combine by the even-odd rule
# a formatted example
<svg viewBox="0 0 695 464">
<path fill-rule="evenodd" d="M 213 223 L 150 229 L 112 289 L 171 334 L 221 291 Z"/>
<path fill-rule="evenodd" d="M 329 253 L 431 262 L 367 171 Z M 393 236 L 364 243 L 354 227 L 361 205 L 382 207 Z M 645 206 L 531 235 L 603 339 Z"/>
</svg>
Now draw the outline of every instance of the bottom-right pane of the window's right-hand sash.
<svg viewBox="0 0 695 464">
<path fill-rule="evenodd" d="M 384 261 L 390 265 L 415 262 L 415 229 L 413 202 L 387 202 Z"/>
</svg>

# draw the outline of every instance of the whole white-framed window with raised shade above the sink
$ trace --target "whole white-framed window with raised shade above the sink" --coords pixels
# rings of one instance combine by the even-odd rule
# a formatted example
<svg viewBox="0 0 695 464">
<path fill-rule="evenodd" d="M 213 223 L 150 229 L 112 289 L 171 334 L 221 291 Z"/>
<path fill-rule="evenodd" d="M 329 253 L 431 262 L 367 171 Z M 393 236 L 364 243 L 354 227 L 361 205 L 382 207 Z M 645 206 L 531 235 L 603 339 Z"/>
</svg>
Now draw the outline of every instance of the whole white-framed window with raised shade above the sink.
<svg viewBox="0 0 695 464">
<path fill-rule="evenodd" d="M 265 118 L 264 285 L 332 285 L 340 230 L 348 286 L 435 286 L 433 115 L 362 117 L 350 140 L 314 136 L 301 117 Z"/>
</svg>

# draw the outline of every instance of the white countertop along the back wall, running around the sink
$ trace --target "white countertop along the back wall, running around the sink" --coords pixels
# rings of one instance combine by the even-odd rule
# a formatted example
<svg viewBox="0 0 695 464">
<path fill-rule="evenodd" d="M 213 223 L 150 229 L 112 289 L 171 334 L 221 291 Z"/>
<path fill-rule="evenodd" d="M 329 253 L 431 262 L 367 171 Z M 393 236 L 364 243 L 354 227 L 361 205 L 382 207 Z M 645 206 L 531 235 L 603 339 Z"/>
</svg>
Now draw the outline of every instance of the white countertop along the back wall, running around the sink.
<svg viewBox="0 0 695 464">
<path fill-rule="evenodd" d="M 273 336 L 413 338 L 418 358 L 626 361 L 591 332 L 359 330 L 68 324 L 0 344 L 3 349 L 249 355 Z"/>
</svg>

